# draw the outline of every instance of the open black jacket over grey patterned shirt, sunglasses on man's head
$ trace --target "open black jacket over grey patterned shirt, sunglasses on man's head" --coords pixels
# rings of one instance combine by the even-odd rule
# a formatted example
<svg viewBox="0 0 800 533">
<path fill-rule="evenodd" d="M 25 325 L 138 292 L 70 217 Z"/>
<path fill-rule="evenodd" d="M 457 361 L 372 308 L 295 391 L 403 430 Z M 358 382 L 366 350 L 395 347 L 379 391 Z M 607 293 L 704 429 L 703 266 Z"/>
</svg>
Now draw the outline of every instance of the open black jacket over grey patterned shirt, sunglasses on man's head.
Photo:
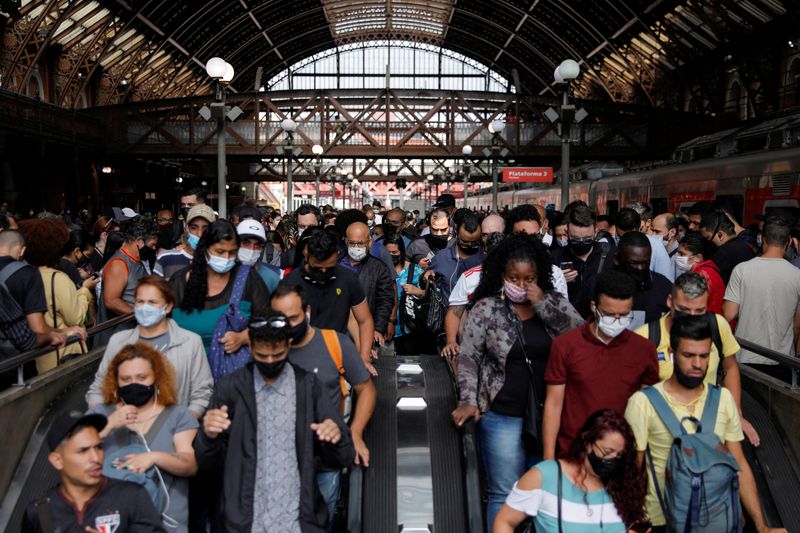
<svg viewBox="0 0 800 533">
<path fill-rule="evenodd" d="M 258 429 L 252 362 L 222 379 L 214 390 L 209 409 L 228 406 L 231 427 L 216 439 L 202 428 L 194 440 L 197 464 L 202 470 L 222 467 L 221 526 L 225 532 L 249 532 L 253 525 Z M 318 461 L 328 468 L 353 463 L 355 448 L 341 414 L 330 402 L 316 376 L 292 367 L 297 385 L 295 443 L 300 468 L 300 528 L 303 533 L 323 533 L 328 511 L 316 482 Z M 337 444 L 321 443 L 311 424 L 330 418 L 342 431 Z"/>
</svg>

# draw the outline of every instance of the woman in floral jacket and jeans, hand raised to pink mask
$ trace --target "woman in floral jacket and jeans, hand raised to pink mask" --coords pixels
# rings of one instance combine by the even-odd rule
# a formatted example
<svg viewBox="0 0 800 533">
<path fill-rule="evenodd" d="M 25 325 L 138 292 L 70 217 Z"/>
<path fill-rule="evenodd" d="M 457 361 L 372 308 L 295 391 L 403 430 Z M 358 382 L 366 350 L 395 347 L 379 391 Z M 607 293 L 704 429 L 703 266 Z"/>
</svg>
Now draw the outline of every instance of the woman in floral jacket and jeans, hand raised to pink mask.
<svg viewBox="0 0 800 533">
<path fill-rule="evenodd" d="M 458 426 L 480 421 L 491 525 L 514 481 L 541 454 L 536 437 L 552 339 L 583 319 L 553 289 L 547 248 L 526 234 L 506 237 L 489 254 L 472 305 L 460 344 L 453 420 Z M 525 434 L 534 437 L 527 439 L 528 450 L 521 440 L 526 416 Z"/>
</svg>

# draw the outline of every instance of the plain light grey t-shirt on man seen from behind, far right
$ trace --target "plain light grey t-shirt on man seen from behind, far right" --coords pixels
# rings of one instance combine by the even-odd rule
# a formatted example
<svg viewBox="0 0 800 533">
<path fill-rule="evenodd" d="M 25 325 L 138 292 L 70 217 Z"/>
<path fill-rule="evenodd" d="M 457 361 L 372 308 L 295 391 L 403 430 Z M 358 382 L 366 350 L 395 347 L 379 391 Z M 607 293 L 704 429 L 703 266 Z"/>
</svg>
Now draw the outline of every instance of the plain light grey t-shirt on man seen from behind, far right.
<svg viewBox="0 0 800 533">
<path fill-rule="evenodd" d="M 736 266 L 725 299 L 739 304 L 736 335 L 794 355 L 794 316 L 800 309 L 800 270 L 785 259 L 756 257 Z M 739 362 L 777 364 L 742 350 Z"/>
</svg>

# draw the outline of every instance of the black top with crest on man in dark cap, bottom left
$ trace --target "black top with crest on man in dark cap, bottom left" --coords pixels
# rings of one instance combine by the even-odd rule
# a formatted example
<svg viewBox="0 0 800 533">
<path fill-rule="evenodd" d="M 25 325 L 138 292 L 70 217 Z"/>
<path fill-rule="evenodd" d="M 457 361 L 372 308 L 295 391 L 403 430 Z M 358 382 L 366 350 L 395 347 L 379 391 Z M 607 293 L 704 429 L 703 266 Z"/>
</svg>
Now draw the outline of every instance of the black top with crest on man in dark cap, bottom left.
<svg viewBox="0 0 800 533">
<path fill-rule="evenodd" d="M 49 515 L 53 531 L 85 531 L 86 526 L 125 533 L 164 533 L 158 511 L 141 485 L 106 478 L 105 485 L 78 513 L 59 490 L 53 487 L 47 496 L 28 505 L 22 519 L 22 533 L 46 533 L 39 517 Z M 100 529 L 100 531 L 103 531 Z"/>
</svg>

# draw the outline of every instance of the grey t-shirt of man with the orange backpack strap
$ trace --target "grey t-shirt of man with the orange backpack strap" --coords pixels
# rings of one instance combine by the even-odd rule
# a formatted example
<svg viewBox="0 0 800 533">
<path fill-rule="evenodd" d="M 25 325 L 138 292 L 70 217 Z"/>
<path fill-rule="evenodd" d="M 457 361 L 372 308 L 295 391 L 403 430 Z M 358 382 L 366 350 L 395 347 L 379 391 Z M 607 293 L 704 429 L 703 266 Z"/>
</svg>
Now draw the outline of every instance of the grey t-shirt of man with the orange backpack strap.
<svg viewBox="0 0 800 533">
<path fill-rule="evenodd" d="M 339 345 L 342 347 L 344 379 L 351 386 L 364 383 L 370 376 L 355 344 L 347 335 L 341 333 L 337 333 L 337 335 L 339 336 Z M 317 379 L 330 396 L 332 405 L 336 407 L 337 411 L 341 409 L 342 389 L 339 386 L 339 369 L 336 368 L 336 363 L 333 362 L 325 345 L 325 339 L 319 330 L 314 330 L 314 336 L 311 337 L 308 344 L 299 348 L 292 347 L 289 350 L 289 362 L 306 372 L 316 374 Z"/>
</svg>

